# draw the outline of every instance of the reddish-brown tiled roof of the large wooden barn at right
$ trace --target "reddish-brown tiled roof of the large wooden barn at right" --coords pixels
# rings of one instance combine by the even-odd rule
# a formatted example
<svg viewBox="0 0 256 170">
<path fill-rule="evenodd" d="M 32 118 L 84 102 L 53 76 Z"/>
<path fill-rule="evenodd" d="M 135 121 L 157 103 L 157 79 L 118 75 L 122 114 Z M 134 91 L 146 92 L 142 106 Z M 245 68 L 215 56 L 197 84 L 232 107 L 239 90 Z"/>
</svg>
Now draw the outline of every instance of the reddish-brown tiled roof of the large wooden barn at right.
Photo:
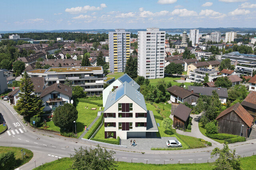
<svg viewBox="0 0 256 170">
<path fill-rule="evenodd" d="M 220 119 L 222 116 L 234 111 L 243 121 L 250 127 L 252 125 L 253 117 L 240 105 L 240 103 L 236 103 L 231 107 L 228 107 L 226 110 L 222 111 L 215 120 Z"/>
</svg>

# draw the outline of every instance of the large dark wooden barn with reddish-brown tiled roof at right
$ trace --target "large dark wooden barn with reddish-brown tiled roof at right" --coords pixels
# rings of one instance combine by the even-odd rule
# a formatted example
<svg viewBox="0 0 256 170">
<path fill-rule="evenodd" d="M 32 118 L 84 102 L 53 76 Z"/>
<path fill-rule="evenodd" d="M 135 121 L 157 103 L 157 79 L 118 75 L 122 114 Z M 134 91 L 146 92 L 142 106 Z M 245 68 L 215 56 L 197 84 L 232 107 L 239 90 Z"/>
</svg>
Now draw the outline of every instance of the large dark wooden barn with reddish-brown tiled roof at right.
<svg viewBox="0 0 256 170">
<path fill-rule="evenodd" d="M 216 120 L 218 120 L 219 133 L 241 135 L 247 138 L 248 129 L 252 125 L 253 117 L 240 103 L 236 103 L 222 111 Z"/>
</svg>

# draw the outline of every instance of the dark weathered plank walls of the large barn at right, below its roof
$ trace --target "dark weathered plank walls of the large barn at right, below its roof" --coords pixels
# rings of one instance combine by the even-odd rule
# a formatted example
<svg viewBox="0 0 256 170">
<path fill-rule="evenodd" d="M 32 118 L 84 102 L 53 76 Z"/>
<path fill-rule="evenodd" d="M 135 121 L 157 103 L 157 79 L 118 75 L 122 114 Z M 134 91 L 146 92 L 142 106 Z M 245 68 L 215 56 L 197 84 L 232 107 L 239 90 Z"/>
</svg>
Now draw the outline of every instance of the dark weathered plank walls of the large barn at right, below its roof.
<svg viewBox="0 0 256 170">
<path fill-rule="evenodd" d="M 234 111 L 218 119 L 219 133 L 229 133 L 240 136 L 242 125 L 244 125 L 242 128 L 242 136 L 247 137 L 248 125 L 246 125 Z"/>
</svg>

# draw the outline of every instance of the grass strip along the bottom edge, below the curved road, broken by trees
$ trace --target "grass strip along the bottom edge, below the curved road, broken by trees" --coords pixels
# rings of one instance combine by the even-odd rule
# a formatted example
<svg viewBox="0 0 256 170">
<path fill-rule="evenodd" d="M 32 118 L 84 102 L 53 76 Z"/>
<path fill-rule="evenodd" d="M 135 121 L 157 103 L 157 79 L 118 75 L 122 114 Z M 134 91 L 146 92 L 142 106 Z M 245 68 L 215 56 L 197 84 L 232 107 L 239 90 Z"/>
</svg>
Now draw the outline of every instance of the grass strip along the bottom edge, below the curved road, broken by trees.
<svg viewBox="0 0 256 170">
<path fill-rule="evenodd" d="M 256 155 L 241 158 L 241 168 L 244 170 L 252 170 L 255 168 Z M 62 158 L 55 160 L 34 168 L 34 170 L 63 170 L 70 168 L 72 160 L 70 158 Z M 139 169 L 139 170 L 213 170 L 216 168 L 214 163 L 201 163 L 201 164 L 144 164 L 144 163 L 129 163 L 117 162 L 117 170 L 124 169 Z"/>
</svg>

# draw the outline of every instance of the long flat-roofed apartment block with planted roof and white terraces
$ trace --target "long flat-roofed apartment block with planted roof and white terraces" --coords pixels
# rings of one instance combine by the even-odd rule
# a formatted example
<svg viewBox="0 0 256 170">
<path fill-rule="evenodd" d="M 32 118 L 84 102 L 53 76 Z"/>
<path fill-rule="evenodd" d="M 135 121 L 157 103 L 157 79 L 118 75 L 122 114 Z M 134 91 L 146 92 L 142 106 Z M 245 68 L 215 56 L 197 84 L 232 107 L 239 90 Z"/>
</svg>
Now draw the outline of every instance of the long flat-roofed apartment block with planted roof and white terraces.
<svg viewBox="0 0 256 170">
<path fill-rule="evenodd" d="M 28 71 L 30 77 L 44 77 L 45 86 L 50 86 L 59 80 L 72 86 L 81 86 L 87 95 L 100 95 L 103 91 L 102 66 L 75 66 L 75 67 L 51 67 L 47 70 L 36 69 Z"/>
</svg>

